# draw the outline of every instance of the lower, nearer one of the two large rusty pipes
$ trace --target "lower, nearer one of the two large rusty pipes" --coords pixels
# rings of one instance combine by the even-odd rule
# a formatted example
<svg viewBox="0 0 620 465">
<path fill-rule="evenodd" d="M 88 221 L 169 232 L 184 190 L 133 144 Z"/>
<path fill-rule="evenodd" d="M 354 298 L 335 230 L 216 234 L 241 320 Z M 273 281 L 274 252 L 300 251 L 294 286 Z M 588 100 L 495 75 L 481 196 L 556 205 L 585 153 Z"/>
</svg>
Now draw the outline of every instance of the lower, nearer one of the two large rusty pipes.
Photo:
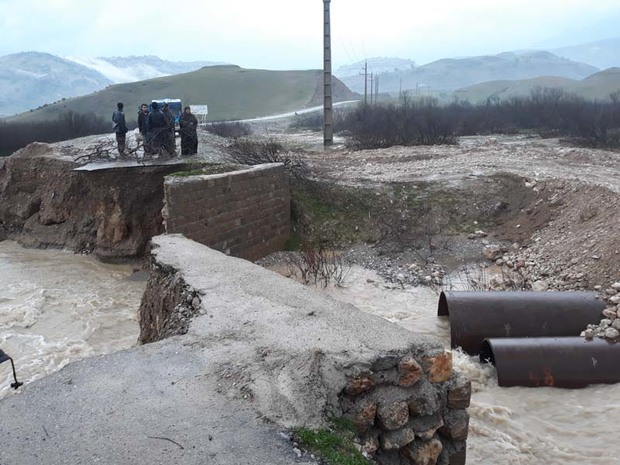
<svg viewBox="0 0 620 465">
<path fill-rule="evenodd" d="M 500 386 L 583 388 L 620 382 L 620 344 L 595 338 L 492 338 L 480 361 L 497 368 Z"/>
</svg>

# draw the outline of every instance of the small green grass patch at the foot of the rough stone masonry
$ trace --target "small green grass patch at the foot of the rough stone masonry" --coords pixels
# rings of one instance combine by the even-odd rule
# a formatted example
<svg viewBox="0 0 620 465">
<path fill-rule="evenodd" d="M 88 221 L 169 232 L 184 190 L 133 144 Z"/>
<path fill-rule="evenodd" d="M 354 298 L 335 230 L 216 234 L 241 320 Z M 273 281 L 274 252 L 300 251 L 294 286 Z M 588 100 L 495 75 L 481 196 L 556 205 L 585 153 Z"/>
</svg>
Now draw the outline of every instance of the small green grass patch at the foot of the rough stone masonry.
<svg viewBox="0 0 620 465">
<path fill-rule="evenodd" d="M 321 457 L 329 465 L 372 464 L 355 447 L 355 427 L 345 418 L 332 418 L 330 428 L 318 430 L 295 428 L 293 436 L 304 448 Z"/>
</svg>

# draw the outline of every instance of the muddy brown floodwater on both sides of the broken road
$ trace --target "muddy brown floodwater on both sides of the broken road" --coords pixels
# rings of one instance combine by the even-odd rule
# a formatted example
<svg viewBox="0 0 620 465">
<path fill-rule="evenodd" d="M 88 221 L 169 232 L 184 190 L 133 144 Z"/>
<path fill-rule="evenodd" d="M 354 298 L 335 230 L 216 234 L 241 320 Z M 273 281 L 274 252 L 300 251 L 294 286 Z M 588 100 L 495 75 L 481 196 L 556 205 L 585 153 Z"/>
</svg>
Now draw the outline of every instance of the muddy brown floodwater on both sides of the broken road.
<svg viewBox="0 0 620 465">
<path fill-rule="evenodd" d="M 55 250 L 0 242 L 0 348 L 30 382 L 69 362 L 133 346 L 145 287 L 132 267 Z M 334 298 L 450 345 L 438 296 L 426 287 L 383 283 L 352 268 Z M 453 352 L 473 383 L 467 462 L 476 465 L 620 465 L 620 384 L 580 390 L 500 388 L 495 370 Z M 9 393 L 10 364 L 0 365 L 0 397 Z"/>
</svg>

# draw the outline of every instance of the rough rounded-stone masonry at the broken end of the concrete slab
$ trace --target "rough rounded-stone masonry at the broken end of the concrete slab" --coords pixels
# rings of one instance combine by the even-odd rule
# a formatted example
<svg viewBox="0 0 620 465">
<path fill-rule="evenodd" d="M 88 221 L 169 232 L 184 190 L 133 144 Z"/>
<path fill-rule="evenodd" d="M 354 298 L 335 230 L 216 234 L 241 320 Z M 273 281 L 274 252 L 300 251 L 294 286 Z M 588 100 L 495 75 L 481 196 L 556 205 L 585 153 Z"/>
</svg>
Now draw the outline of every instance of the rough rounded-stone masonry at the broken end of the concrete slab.
<svg viewBox="0 0 620 465">
<path fill-rule="evenodd" d="M 347 379 L 343 412 L 378 463 L 465 463 L 471 382 L 450 352 L 381 357 Z"/>
</svg>

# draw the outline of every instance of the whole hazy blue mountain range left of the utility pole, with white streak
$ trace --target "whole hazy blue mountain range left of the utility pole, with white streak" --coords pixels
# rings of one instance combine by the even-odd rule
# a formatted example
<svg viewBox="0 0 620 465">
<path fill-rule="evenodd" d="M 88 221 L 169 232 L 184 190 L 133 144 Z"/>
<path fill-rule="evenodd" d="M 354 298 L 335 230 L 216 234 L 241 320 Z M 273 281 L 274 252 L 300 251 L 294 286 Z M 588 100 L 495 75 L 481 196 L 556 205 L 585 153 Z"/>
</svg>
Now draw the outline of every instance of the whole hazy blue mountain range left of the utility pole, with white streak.
<svg viewBox="0 0 620 465">
<path fill-rule="evenodd" d="M 156 56 L 61 58 L 40 52 L 5 55 L 0 57 L 0 117 L 90 94 L 115 83 L 186 73 L 215 64 L 166 61 Z"/>
</svg>

